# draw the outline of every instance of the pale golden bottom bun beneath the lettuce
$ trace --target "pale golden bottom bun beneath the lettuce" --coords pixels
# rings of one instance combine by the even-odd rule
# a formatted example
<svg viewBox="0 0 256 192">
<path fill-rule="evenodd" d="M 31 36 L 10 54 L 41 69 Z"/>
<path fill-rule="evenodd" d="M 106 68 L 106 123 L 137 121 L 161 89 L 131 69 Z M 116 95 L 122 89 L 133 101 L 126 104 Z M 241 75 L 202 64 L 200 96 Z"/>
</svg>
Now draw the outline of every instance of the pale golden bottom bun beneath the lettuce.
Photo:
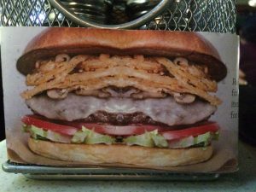
<svg viewBox="0 0 256 192">
<path fill-rule="evenodd" d="M 144 148 L 122 144 L 53 143 L 29 138 L 29 148 L 55 160 L 75 161 L 84 165 L 135 165 L 142 167 L 184 166 L 208 160 L 212 146 L 203 148 Z M 68 163 L 67 163 L 68 164 Z"/>
</svg>

